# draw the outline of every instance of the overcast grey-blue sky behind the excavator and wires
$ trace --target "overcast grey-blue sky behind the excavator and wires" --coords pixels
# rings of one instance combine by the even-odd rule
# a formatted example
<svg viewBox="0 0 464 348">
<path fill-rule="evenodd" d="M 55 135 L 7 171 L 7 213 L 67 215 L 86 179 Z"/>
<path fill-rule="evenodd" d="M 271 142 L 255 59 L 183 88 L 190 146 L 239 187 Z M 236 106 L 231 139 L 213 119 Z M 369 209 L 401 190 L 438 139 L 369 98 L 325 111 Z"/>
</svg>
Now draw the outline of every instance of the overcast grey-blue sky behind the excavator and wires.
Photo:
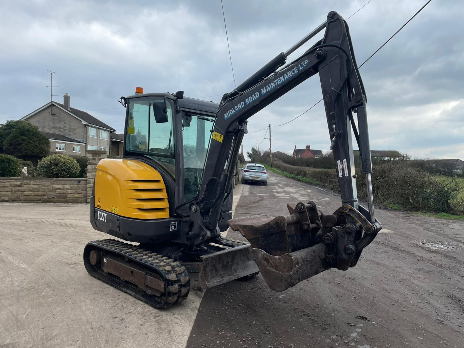
<svg viewBox="0 0 464 348">
<path fill-rule="evenodd" d="M 344 18 L 367 0 L 223 0 L 237 85 L 325 20 Z M 426 0 L 372 0 L 348 20 L 354 52 L 363 62 Z M 367 93 L 371 149 L 419 158 L 464 160 L 464 6 L 433 0 L 361 68 Z M 220 0 L 0 2 L 0 123 L 50 101 L 50 75 L 63 103 L 88 111 L 123 132 L 117 102 L 145 92 L 184 90 L 219 102 L 234 87 Z M 306 46 L 312 45 L 322 33 Z M 209 97 L 213 96 L 213 97 Z M 284 123 L 321 99 L 314 76 L 272 103 L 248 124 L 244 148 L 261 142 L 267 124 Z M 109 109 L 109 110 L 100 110 Z M 323 105 L 272 128 L 272 149 L 297 145 L 328 151 Z M 269 148 L 268 140 L 260 148 Z"/>
</svg>

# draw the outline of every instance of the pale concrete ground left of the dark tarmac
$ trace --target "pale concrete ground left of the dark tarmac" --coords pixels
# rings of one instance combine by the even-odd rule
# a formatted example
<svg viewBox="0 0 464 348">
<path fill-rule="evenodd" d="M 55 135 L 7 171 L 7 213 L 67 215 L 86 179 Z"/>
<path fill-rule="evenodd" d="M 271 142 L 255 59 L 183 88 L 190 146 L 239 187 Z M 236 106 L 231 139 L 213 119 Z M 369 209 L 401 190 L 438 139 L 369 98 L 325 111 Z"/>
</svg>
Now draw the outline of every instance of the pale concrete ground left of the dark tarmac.
<svg viewBox="0 0 464 348">
<path fill-rule="evenodd" d="M 0 347 L 185 347 L 202 292 L 156 310 L 91 277 L 87 204 L 0 204 Z"/>
</svg>

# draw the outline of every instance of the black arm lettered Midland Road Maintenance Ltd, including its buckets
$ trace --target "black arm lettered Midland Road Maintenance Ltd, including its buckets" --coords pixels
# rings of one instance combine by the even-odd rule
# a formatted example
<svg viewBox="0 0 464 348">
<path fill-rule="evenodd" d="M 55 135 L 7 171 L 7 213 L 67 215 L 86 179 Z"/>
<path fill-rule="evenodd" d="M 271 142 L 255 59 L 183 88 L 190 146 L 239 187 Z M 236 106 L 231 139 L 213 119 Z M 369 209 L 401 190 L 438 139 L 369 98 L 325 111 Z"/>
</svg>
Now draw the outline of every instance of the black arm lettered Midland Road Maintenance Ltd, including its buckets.
<svg viewBox="0 0 464 348">
<path fill-rule="evenodd" d="M 324 28 L 322 40 L 286 64 L 290 53 Z M 248 118 L 317 73 L 342 207 L 333 214 L 324 215 L 314 202 L 299 202 L 295 206 L 289 205 L 289 216 L 262 215 L 229 221 L 234 230 L 250 241 L 258 268 L 271 288 L 278 291 L 331 267 L 346 270 L 354 266 L 362 249 L 381 229 L 380 222 L 374 217 L 367 98 L 348 25 L 338 13 L 330 12 L 326 22 L 224 95 L 199 193 L 189 202 L 193 221 L 189 238 L 193 243 L 218 238 L 218 219 L 223 202 L 232 190 L 235 159 L 247 133 Z M 310 127 L 306 129 L 310 133 Z M 368 209 L 361 206 L 357 198 L 352 130 L 360 150 Z M 287 276 L 283 277 L 283 274 Z"/>
</svg>

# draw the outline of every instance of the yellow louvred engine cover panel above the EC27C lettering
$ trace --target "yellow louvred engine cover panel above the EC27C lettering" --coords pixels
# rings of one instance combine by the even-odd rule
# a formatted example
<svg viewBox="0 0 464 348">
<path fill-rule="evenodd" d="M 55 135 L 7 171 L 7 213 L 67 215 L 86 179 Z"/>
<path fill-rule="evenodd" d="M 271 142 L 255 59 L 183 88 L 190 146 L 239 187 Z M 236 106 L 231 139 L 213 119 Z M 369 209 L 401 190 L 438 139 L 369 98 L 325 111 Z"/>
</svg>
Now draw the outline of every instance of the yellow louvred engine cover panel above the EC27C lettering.
<svg viewBox="0 0 464 348">
<path fill-rule="evenodd" d="M 106 158 L 98 163 L 95 206 L 127 218 L 169 217 L 168 194 L 161 174 L 136 160 Z"/>
</svg>

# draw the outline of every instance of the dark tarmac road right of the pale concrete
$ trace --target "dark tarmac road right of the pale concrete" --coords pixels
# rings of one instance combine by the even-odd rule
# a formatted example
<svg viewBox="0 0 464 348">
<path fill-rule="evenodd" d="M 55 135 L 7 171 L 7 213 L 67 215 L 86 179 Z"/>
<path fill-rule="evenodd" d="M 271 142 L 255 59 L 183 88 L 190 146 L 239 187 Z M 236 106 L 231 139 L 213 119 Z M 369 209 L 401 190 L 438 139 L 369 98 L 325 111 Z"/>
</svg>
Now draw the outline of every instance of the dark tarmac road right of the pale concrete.
<svg viewBox="0 0 464 348">
<path fill-rule="evenodd" d="M 234 217 L 288 214 L 287 202 L 308 200 L 326 213 L 341 205 L 269 173 L 267 186 L 245 184 Z M 206 290 L 187 347 L 464 347 L 464 222 L 383 209 L 376 217 L 383 233 L 355 268 L 281 293 L 260 276 Z"/>
</svg>

